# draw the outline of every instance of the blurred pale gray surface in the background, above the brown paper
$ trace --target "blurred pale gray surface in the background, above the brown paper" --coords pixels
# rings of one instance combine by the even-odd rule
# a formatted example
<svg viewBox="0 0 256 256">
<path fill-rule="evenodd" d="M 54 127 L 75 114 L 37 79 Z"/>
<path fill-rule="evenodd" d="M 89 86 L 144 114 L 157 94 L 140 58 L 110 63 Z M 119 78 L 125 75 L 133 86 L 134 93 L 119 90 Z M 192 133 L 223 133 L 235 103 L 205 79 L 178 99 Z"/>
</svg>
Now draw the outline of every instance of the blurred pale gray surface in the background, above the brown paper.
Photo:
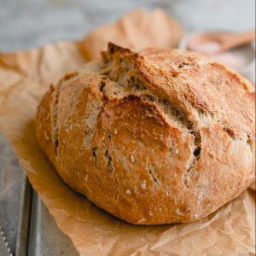
<svg viewBox="0 0 256 256">
<path fill-rule="evenodd" d="M 255 0 L 0 0 L 0 50 L 78 39 L 139 7 L 163 8 L 189 30 L 254 27 Z"/>
</svg>

